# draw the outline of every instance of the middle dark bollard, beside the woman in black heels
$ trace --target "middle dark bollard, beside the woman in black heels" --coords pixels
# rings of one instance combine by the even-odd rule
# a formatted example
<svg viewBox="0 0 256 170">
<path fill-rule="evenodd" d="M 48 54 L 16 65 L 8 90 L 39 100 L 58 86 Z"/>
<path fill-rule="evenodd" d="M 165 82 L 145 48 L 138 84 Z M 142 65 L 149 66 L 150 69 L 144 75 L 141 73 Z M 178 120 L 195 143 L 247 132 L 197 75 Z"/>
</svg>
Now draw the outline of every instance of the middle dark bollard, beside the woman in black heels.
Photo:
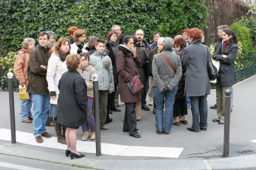
<svg viewBox="0 0 256 170">
<path fill-rule="evenodd" d="M 94 102 L 94 115 L 95 115 L 95 131 L 96 131 L 96 156 L 101 155 L 100 143 L 100 110 L 99 110 L 99 85 L 98 75 L 93 74 L 93 102 Z"/>
</svg>

